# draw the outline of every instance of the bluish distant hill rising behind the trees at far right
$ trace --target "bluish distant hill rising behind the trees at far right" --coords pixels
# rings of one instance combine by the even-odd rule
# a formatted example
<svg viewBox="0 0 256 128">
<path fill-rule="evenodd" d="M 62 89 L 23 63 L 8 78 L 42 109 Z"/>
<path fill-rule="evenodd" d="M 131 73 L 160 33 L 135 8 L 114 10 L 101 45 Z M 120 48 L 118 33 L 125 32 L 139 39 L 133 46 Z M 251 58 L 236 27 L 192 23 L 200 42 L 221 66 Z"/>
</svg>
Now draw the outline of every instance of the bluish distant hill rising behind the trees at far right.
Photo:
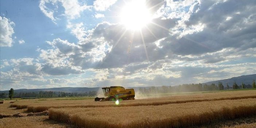
<svg viewBox="0 0 256 128">
<path fill-rule="evenodd" d="M 236 82 L 237 85 L 242 85 L 242 82 L 244 82 L 245 85 L 252 85 L 252 81 L 253 79 L 256 80 L 256 74 L 252 74 L 252 75 L 242 75 L 240 77 L 232 77 L 229 79 L 221 79 L 221 80 L 217 80 L 217 81 L 210 81 L 210 82 L 206 82 L 206 83 L 202 83 L 202 84 L 215 84 L 218 85 L 219 82 L 222 82 L 222 84 L 224 85 L 224 87 L 226 87 L 227 83 L 229 86 L 232 86 L 234 82 Z"/>
</svg>

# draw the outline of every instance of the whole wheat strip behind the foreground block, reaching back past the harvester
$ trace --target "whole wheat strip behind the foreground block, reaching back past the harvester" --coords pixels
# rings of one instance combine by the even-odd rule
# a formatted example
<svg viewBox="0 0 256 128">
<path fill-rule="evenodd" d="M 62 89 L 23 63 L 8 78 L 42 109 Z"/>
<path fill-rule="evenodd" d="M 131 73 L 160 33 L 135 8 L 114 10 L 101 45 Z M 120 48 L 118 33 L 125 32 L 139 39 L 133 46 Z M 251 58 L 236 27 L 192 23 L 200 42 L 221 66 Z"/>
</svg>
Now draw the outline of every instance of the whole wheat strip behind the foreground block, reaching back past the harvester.
<svg viewBox="0 0 256 128">
<path fill-rule="evenodd" d="M 217 92 L 203 94 L 175 95 L 160 98 L 125 100 L 119 105 L 113 102 L 95 102 L 93 100 L 24 100 L 15 102 L 10 107 L 16 109 L 27 108 L 28 112 L 43 112 L 49 108 L 68 108 L 68 107 L 121 107 L 121 106 L 146 106 L 146 105 L 166 105 L 186 102 L 218 101 L 218 100 L 236 100 L 245 98 L 256 98 L 256 90 L 235 91 L 235 92 Z"/>
</svg>

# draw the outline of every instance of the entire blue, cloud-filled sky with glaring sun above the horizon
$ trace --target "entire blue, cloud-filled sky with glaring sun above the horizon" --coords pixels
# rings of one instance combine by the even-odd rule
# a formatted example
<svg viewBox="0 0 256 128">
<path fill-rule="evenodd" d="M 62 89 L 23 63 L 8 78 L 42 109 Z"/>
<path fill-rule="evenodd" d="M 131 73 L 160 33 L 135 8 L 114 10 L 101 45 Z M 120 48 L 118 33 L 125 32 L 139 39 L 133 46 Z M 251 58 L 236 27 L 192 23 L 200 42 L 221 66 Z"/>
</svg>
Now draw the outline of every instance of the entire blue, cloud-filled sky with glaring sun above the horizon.
<svg viewBox="0 0 256 128">
<path fill-rule="evenodd" d="M 0 90 L 256 73 L 255 0 L 0 0 Z"/>
</svg>

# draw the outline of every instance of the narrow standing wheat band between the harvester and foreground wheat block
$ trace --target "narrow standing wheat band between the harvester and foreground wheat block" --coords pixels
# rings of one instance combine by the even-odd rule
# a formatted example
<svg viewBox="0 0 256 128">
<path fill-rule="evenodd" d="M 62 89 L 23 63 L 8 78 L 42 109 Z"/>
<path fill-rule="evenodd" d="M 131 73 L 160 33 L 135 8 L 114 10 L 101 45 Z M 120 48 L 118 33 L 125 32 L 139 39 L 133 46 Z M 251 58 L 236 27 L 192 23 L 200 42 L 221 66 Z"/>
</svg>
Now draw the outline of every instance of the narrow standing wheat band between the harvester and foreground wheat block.
<svg viewBox="0 0 256 128">
<path fill-rule="evenodd" d="M 256 98 L 256 96 L 243 96 L 243 97 L 227 97 L 227 98 L 213 98 L 213 99 L 189 99 L 189 100 L 158 100 L 158 101 L 137 101 L 137 102 L 120 102 L 119 105 L 115 105 L 113 102 L 100 102 L 101 104 L 62 104 L 62 105 L 30 105 L 27 106 L 28 112 L 43 112 L 49 108 L 68 108 L 68 107 L 121 107 L 121 106 L 147 106 L 147 105 L 165 105 L 165 104 L 181 104 L 186 102 L 202 102 L 202 101 L 218 101 L 218 100 L 237 100 L 246 98 Z M 24 105 L 17 105 L 17 108 L 22 108 Z"/>
</svg>

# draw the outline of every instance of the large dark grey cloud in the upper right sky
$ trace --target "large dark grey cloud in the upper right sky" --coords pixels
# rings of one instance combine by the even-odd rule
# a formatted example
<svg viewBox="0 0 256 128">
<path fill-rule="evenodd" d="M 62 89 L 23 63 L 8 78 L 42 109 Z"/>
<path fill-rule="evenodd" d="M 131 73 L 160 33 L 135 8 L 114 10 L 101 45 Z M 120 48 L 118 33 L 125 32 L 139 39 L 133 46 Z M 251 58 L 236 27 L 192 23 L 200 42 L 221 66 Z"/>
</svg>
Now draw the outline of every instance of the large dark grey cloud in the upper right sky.
<svg viewBox="0 0 256 128">
<path fill-rule="evenodd" d="M 167 49 L 179 55 L 211 53 L 226 47 L 238 49 L 241 45 L 254 43 L 255 32 L 253 31 L 255 30 L 252 29 L 255 28 L 256 23 L 252 20 L 244 22 L 255 15 L 252 8 L 256 7 L 256 3 L 252 3 L 255 1 L 248 1 L 248 3 L 221 1 L 217 4 L 202 1 L 197 7 L 197 12 L 187 12 L 189 18 L 179 22 L 179 30 L 174 31 L 177 34 L 166 38 L 163 42 L 170 46 L 166 47 Z M 237 12 L 241 13 L 237 14 Z M 226 21 L 228 16 L 233 18 Z M 190 30 L 191 26 L 198 23 L 204 26 L 201 30 L 193 30 L 177 39 L 179 34 Z"/>
</svg>

